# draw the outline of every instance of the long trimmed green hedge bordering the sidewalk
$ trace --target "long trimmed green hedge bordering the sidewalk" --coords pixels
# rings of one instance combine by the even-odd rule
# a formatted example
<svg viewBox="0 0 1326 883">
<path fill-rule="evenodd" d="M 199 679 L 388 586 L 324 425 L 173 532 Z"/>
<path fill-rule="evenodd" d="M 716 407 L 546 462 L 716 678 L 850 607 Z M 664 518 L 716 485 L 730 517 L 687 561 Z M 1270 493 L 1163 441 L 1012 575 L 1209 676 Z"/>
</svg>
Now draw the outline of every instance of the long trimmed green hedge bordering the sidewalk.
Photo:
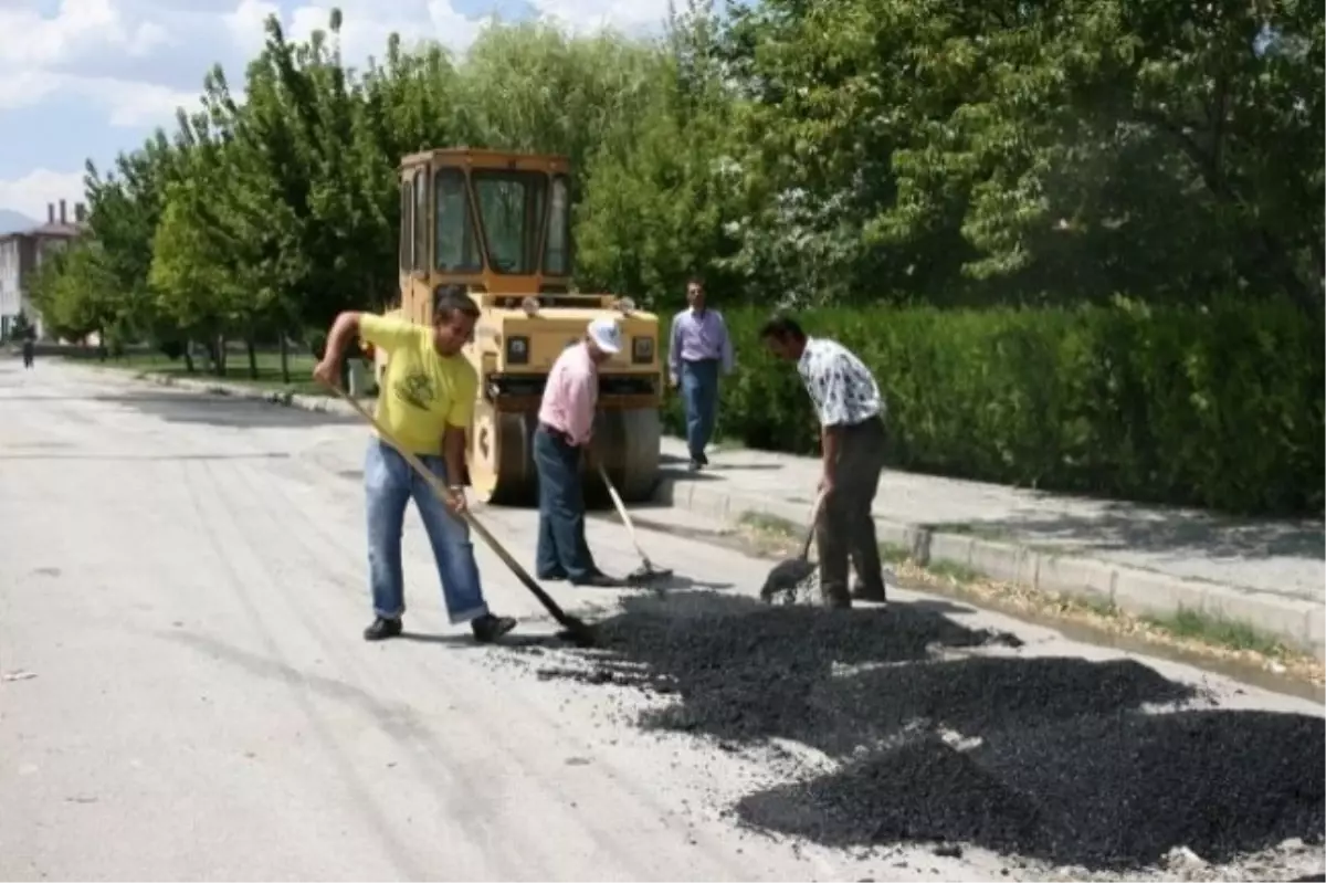
<svg viewBox="0 0 1326 883">
<path fill-rule="evenodd" d="M 766 313 L 724 316 L 737 370 L 719 435 L 817 452 L 794 367 L 757 339 Z M 1249 514 L 1326 510 L 1326 321 L 1292 305 L 798 318 L 874 369 L 894 468 Z M 666 420 L 680 432 L 675 395 Z"/>
</svg>

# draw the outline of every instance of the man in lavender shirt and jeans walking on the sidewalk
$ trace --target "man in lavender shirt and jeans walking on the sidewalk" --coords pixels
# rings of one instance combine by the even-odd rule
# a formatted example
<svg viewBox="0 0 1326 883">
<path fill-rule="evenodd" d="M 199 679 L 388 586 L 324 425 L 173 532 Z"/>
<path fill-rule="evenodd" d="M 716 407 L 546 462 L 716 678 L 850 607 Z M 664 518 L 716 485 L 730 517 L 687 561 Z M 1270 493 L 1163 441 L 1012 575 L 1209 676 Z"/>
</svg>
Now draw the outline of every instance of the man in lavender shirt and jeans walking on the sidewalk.
<svg viewBox="0 0 1326 883">
<path fill-rule="evenodd" d="M 709 465 L 704 455 L 719 416 L 719 374 L 732 373 L 732 338 L 723 314 L 708 306 L 704 280 L 686 285 L 687 309 L 672 317 L 668 369 L 686 402 L 686 444 L 691 471 Z"/>
</svg>

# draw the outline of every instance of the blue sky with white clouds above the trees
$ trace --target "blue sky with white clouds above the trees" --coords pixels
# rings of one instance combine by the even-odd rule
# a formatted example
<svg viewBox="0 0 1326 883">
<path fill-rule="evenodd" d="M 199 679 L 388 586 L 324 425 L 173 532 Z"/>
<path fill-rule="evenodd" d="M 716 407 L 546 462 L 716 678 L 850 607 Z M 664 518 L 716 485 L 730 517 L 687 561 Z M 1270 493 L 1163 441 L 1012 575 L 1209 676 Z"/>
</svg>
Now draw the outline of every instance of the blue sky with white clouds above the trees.
<svg viewBox="0 0 1326 883">
<path fill-rule="evenodd" d="M 84 160 L 107 166 L 168 126 L 213 62 L 237 85 L 269 13 L 304 37 L 333 7 L 351 64 L 392 30 L 463 52 L 489 15 L 627 32 L 667 15 L 667 0 L 0 0 L 0 208 L 45 220 L 46 203 L 73 206 Z"/>
</svg>

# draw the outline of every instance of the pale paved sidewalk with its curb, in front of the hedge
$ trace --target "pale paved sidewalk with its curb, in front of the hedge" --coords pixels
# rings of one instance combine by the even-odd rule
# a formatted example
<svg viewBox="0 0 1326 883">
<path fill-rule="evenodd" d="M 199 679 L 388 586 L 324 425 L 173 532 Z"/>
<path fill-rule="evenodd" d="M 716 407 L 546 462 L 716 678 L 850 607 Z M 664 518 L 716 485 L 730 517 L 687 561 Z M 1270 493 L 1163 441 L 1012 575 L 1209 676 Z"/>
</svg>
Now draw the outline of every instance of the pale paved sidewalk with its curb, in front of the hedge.
<svg viewBox="0 0 1326 883">
<path fill-rule="evenodd" d="M 663 440 L 655 499 L 735 521 L 762 512 L 810 517 L 819 463 L 719 451 L 700 473 Z M 1235 521 L 1203 512 L 1061 497 L 1002 485 L 886 472 L 879 541 L 919 563 L 1115 603 L 1138 615 L 1180 607 L 1242 620 L 1326 659 L 1326 524 Z"/>
</svg>

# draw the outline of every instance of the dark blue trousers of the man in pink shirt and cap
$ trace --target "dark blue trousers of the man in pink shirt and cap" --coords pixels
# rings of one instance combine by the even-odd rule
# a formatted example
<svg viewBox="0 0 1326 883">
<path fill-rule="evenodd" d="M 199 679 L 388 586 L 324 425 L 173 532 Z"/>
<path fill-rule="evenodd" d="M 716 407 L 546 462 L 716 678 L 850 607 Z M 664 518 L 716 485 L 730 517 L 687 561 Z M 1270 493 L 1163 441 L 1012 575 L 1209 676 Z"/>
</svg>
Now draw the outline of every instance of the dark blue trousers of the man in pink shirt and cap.
<svg viewBox="0 0 1326 883">
<path fill-rule="evenodd" d="M 585 541 L 585 496 L 579 481 L 581 449 L 546 427 L 534 431 L 538 469 L 540 579 L 583 582 L 594 575 L 594 556 Z"/>
</svg>

